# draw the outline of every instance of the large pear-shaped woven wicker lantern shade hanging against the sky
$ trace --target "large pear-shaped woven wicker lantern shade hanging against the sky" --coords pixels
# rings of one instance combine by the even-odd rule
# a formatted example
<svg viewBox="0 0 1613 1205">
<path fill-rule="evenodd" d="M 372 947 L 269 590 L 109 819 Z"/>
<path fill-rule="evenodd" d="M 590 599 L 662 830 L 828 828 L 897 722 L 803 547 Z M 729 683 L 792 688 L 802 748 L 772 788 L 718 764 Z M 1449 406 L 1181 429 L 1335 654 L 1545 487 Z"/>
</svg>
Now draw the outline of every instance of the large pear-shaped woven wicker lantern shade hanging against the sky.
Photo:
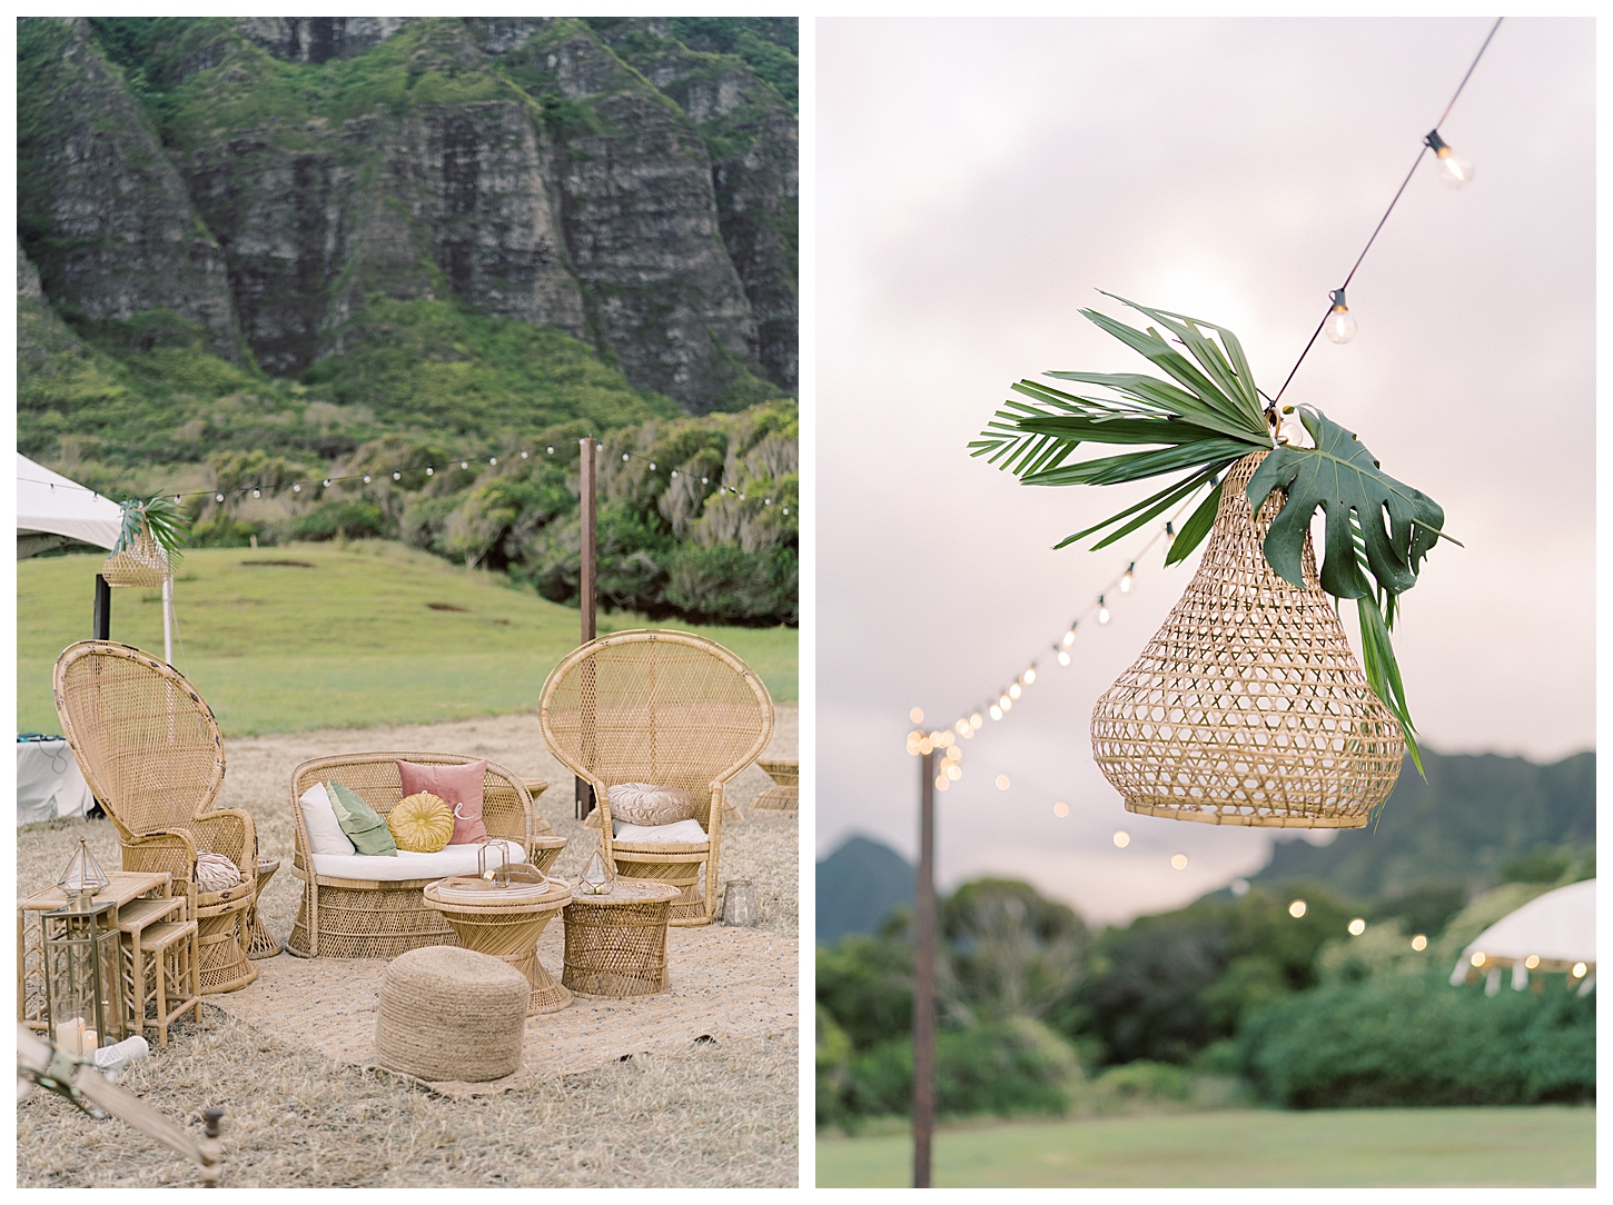
<svg viewBox="0 0 1613 1205">
<path fill-rule="evenodd" d="M 1266 562 L 1282 506 L 1250 514 L 1266 453 L 1226 477 L 1198 572 L 1092 710 L 1092 756 L 1142 815 L 1211 825 L 1360 828 L 1400 775 L 1400 725 L 1373 694 L 1305 538 L 1305 590 Z"/>
</svg>

